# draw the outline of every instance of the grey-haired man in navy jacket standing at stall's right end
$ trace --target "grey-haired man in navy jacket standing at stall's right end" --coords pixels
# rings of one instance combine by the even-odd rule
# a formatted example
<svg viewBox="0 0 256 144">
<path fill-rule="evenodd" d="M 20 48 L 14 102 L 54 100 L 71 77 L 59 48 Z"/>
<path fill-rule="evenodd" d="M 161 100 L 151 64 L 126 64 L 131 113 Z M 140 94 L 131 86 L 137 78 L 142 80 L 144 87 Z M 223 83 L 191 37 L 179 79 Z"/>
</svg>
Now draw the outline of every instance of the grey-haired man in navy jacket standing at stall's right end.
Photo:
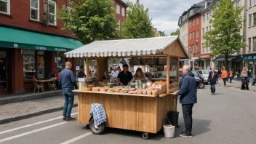
<svg viewBox="0 0 256 144">
<path fill-rule="evenodd" d="M 180 95 L 185 123 L 185 132 L 182 132 L 180 137 L 192 137 L 192 108 L 193 104 L 197 103 L 196 92 L 196 79 L 191 72 L 191 67 L 184 65 L 183 78 L 180 80 L 180 90 L 175 92 L 175 95 Z"/>
</svg>

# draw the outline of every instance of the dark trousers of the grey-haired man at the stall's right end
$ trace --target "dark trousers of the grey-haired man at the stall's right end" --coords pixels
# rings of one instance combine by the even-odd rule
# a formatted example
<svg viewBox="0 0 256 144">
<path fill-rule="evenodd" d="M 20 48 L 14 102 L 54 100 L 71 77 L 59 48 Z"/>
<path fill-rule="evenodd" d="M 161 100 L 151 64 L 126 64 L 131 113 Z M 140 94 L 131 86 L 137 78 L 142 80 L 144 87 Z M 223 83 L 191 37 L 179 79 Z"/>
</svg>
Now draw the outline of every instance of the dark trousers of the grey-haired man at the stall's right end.
<svg viewBox="0 0 256 144">
<path fill-rule="evenodd" d="M 185 123 L 185 133 L 188 135 L 191 135 L 192 132 L 192 108 L 193 108 L 193 103 L 192 104 L 183 104 L 183 119 Z"/>
</svg>

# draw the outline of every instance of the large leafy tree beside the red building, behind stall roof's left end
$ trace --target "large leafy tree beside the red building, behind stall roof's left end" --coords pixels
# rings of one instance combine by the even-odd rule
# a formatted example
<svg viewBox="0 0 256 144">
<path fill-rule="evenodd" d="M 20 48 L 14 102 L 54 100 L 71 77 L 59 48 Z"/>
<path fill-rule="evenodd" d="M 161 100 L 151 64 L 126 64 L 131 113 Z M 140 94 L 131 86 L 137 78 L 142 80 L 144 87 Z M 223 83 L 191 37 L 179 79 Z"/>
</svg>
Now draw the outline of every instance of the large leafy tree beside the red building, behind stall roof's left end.
<svg viewBox="0 0 256 144">
<path fill-rule="evenodd" d="M 58 18 L 84 44 L 95 40 L 117 37 L 113 0 L 76 0 L 70 1 L 70 9 L 63 6 Z"/>
</svg>

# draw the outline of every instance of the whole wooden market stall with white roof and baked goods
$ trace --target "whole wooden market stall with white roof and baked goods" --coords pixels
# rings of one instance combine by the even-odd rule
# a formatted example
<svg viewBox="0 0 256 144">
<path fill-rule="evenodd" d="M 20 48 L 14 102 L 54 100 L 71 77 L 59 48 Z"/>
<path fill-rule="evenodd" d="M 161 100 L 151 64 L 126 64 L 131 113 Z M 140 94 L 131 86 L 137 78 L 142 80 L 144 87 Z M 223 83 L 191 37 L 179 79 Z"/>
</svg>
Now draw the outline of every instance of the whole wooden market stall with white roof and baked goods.
<svg viewBox="0 0 256 144">
<path fill-rule="evenodd" d="M 89 73 L 89 60 L 97 60 L 97 79 L 103 81 L 108 73 L 108 59 L 120 58 L 165 58 L 166 81 L 147 82 L 140 87 L 109 87 L 92 78 L 79 83 L 78 94 L 79 122 L 88 124 L 90 105 L 103 104 L 107 121 L 105 127 L 129 129 L 148 133 L 157 133 L 163 127 L 163 119 L 168 111 L 176 111 L 177 97 L 172 92 L 178 87 L 170 85 L 170 60 L 177 59 L 177 80 L 179 83 L 180 57 L 188 58 L 178 36 L 165 36 L 149 39 L 125 39 L 112 41 L 94 41 L 84 47 L 65 53 L 66 57 L 83 57 L 86 61 L 86 73 Z M 149 61 L 148 61 L 149 63 Z M 101 86 L 101 87 L 100 87 Z M 92 122 L 92 121 L 91 121 Z"/>
</svg>

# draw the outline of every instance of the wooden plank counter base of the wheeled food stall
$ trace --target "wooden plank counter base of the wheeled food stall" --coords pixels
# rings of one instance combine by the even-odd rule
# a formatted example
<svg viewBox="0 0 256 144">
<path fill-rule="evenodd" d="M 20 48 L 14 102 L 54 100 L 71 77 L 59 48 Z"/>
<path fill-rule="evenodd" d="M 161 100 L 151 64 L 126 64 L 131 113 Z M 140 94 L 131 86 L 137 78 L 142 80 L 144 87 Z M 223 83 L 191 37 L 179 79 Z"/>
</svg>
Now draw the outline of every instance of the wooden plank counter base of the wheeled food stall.
<svg viewBox="0 0 256 144">
<path fill-rule="evenodd" d="M 106 127 L 157 133 L 168 111 L 176 111 L 177 100 L 171 94 L 136 95 L 117 92 L 74 90 L 78 94 L 79 122 L 89 124 L 90 105 L 103 104 Z"/>
</svg>

